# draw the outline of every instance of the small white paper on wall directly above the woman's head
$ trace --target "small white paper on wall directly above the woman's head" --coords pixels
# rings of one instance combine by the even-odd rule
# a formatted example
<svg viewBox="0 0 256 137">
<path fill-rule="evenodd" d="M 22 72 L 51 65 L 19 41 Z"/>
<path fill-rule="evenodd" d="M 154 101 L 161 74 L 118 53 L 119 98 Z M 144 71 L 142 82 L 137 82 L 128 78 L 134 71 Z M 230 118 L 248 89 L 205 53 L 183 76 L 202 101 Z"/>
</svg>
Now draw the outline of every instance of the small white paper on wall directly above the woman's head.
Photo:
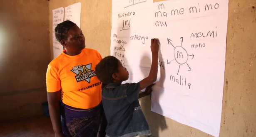
<svg viewBox="0 0 256 137">
<path fill-rule="evenodd" d="M 73 5 L 65 7 L 65 19 L 70 20 L 77 24 L 80 28 L 81 26 L 81 2 L 75 3 Z"/>
</svg>

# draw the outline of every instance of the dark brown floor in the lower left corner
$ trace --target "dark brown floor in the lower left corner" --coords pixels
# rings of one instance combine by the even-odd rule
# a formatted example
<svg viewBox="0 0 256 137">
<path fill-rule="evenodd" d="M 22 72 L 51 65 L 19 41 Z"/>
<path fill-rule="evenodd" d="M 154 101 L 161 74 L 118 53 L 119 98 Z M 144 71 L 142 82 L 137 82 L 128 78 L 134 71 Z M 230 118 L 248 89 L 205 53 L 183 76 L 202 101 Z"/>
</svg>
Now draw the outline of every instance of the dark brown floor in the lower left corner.
<svg viewBox="0 0 256 137">
<path fill-rule="evenodd" d="M 50 117 L 39 115 L 0 121 L 0 137 L 54 137 Z"/>
</svg>

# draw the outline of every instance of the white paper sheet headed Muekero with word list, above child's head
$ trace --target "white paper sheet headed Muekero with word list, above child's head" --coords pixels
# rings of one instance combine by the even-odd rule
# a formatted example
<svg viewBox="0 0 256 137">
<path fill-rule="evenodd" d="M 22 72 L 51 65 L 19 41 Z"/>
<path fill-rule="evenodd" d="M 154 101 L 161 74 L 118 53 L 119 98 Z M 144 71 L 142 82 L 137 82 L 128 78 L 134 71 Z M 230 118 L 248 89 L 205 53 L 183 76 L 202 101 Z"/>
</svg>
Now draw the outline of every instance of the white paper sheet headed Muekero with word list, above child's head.
<svg viewBox="0 0 256 137">
<path fill-rule="evenodd" d="M 139 82 L 149 70 L 152 4 L 153 0 L 112 0 L 110 51 L 129 71 L 125 82 Z"/>
</svg>

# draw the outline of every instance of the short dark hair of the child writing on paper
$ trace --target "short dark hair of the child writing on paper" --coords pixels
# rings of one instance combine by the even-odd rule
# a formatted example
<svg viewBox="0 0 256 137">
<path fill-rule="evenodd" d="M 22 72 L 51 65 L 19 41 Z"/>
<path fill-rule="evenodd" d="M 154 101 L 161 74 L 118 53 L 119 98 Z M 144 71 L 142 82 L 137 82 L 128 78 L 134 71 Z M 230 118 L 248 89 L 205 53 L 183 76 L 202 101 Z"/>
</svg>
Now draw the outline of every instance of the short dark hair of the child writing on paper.
<svg viewBox="0 0 256 137">
<path fill-rule="evenodd" d="M 106 56 L 95 67 L 95 74 L 103 83 L 112 83 L 114 73 L 118 72 L 118 59 L 114 56 Z"/>
</svg>

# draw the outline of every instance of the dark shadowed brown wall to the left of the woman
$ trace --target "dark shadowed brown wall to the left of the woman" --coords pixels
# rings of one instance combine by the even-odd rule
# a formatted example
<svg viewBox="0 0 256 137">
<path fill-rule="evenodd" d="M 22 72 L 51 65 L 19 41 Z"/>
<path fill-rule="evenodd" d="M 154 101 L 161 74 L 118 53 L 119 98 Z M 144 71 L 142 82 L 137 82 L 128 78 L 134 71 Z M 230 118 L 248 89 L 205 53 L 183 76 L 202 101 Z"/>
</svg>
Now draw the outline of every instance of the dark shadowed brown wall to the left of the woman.
<svg viewBox="0 0 256 137">
<path fill-rule="evenodd" d="M 47 0 L 0 0 L 0 120 L 43 114 L 49 41 Z"/>
</svg>

